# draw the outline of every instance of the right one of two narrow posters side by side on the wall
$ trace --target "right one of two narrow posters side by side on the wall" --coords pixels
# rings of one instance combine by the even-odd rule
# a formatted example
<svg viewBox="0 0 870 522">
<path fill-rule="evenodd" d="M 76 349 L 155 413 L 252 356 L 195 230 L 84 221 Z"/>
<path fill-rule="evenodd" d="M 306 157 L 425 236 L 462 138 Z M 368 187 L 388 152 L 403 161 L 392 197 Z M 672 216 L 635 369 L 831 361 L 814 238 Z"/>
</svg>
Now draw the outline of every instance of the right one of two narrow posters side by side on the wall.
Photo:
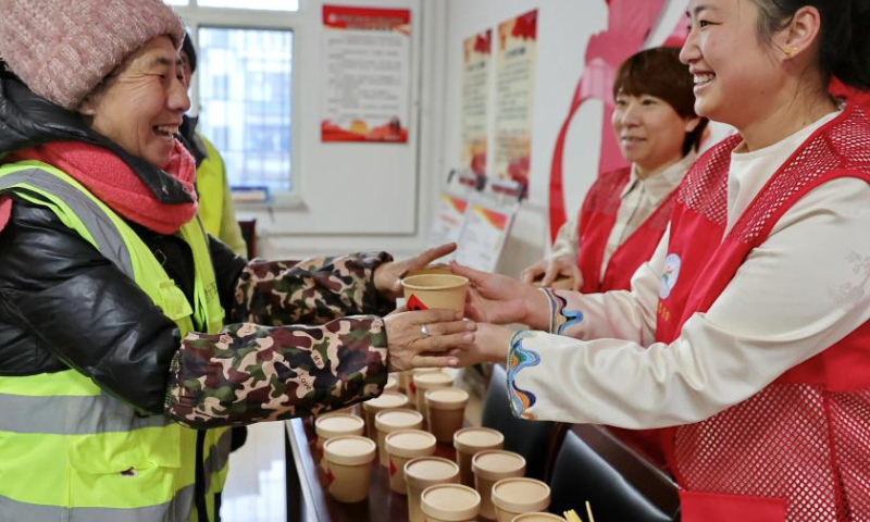
<svg viewBox="0 0 870 522">
<path fill-rule="evenodd" d="M 537 10 L 498 25 L 493 173 L 527 184 L 532 158 Z"/>
</svg>

